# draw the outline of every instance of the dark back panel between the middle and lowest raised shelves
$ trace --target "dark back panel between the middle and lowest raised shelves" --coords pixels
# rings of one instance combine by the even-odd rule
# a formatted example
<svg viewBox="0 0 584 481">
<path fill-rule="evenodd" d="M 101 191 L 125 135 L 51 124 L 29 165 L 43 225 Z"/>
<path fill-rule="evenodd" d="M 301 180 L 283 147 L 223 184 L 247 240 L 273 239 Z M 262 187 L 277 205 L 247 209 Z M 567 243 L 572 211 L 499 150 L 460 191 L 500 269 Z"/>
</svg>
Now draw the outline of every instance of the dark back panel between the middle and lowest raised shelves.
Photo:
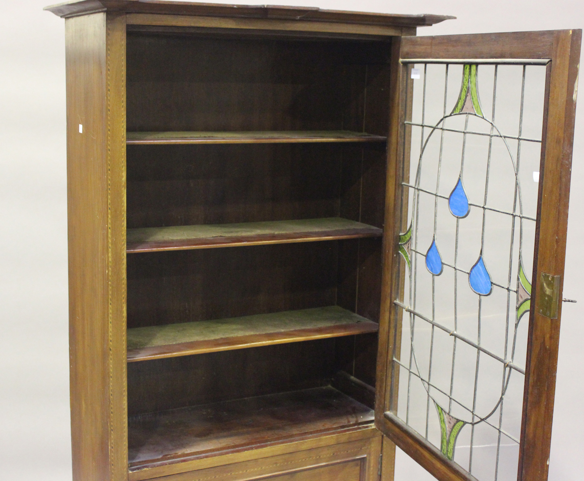
<svg viewBox="0 0 584 481">
<path fill-rule="evenodd" d="M 336 302 L 336 241 L 127 256 L 128 327 Z"/>
</svg>

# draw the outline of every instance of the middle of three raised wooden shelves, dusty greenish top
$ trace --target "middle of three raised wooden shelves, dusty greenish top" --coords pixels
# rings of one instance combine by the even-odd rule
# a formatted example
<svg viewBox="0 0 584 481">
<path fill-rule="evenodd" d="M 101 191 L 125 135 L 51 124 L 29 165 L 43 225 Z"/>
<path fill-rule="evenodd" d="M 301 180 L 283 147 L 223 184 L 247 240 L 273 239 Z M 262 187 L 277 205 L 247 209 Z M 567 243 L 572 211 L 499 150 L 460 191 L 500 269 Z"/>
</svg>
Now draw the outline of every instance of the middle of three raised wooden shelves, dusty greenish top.
<svg viewBox="0 0 584 481">
<path fill-rule="evenodd" d="M 240 224 L 128 229 L 127 252 L 155 252 L 239 245 L 281 244 L 381 237 L 383 230 L 342 217 Z"/>
</svg>

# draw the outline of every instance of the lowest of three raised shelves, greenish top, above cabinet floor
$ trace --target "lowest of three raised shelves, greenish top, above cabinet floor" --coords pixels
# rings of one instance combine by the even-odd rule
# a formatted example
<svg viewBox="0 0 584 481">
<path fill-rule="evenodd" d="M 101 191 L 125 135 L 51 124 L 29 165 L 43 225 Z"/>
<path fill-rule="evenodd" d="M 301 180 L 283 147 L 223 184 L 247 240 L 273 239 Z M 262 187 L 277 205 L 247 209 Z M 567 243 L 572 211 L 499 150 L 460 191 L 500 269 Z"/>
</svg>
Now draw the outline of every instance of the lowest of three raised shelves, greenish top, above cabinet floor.
<svg viewBox="0 0 584 481">
<path fill-rule="evenodd" d="M 378 324 L 339 306 L 127 330 L 128 362 L 374 333 Z"/>
</svg>

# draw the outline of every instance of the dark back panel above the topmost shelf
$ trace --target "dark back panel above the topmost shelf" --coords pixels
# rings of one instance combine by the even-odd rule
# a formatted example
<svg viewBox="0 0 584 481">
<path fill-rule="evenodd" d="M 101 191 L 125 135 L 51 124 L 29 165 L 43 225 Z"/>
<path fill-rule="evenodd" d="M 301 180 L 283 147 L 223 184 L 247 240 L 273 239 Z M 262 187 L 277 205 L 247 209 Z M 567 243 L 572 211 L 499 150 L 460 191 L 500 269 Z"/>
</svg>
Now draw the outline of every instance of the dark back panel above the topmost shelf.
<svg viewBox="0 0 584 481">
<path fill-rule="evenodd" d="M 389 56 L 387 41 L 128 32 L 128 130 L 361 131 L 366 86 Z"/>
</svg>

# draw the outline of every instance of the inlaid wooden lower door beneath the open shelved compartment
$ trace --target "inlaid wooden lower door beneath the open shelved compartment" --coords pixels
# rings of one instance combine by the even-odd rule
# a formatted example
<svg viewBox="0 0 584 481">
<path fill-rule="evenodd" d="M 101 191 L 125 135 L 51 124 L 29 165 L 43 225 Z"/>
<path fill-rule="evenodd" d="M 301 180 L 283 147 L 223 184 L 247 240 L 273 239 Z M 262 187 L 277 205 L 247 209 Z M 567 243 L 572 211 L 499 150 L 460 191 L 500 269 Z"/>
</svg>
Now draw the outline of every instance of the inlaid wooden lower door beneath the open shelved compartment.
<svg viewBox="0 0 584 481">
<path fill-rule="evenodd" d="M 381 436 L 155 478 L 156 481 L 377 481 Z M 154 480 L 152 480 L 154 481 Z"/>
</svg>

